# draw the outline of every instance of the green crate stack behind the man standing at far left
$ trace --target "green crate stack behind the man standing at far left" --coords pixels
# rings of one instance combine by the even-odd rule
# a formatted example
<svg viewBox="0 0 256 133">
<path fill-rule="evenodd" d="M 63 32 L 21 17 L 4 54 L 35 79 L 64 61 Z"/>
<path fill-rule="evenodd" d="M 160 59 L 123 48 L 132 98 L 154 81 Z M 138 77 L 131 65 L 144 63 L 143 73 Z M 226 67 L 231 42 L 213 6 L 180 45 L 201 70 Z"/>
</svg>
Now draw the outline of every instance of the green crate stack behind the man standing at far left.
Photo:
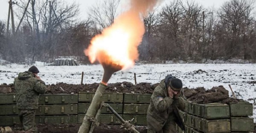
<svg viewBox="0 0 256 133">
<path fill-rule="evenodd" d="M 77 94 L 41 95 L 35 122 L 42 124 L 77 123 Z M 0 94 L 0 126 L 20 124 L 15 94 Z"/>
</svg>

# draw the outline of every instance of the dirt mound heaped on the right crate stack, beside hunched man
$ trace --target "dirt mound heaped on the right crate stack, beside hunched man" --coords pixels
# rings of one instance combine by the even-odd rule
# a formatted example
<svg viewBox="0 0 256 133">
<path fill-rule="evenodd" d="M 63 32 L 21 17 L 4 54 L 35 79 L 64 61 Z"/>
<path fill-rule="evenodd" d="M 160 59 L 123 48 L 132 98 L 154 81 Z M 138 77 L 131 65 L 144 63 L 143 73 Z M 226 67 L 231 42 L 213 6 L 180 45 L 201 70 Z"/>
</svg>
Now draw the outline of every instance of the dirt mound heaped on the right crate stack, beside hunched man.
<svg viewBox="0 0 256 133">
<path fill-rule="evenodd" d="M 184 96 L 195 103 L 207 104 L 207 103 L 226 103 L 239 102 L 241 99 L 234 99 L 229 97 L 228 91 L 223 86 L 212 87 L 212 89 L 206 90 L 204 87 L 198 87 L 196 89 L 184 88 Z"/>
</svg>

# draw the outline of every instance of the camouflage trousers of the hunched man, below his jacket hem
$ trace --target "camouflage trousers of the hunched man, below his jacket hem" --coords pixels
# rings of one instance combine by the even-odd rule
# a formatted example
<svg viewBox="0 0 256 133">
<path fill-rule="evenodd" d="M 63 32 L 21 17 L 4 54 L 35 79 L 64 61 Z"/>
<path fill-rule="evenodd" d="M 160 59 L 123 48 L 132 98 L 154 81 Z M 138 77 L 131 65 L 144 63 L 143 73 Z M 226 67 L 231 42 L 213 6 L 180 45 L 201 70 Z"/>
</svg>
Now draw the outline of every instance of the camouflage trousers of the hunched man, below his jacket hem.
<svg viewBox="0 0 256 133">
<path fill-rule="evenodd" d="M 167 122 L 160 132 L 156 132 L 148 127 L 148 133 L 177 133 L 176 123 L 174 121 Z"/>
</svg>

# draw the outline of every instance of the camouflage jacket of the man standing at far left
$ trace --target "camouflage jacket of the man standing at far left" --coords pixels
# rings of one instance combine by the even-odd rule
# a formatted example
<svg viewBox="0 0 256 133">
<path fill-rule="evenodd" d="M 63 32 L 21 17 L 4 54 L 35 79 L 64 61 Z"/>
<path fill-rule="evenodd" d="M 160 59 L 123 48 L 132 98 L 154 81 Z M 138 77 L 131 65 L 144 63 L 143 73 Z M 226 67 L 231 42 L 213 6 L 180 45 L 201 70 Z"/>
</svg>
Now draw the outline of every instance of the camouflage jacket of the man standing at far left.
<svg viewBox="0 0 256 133">
<path fill-rule="evenodd" d="M 20 72 L 14 80 L 16 90 L 16 103 L 20 110 L 38 108 L 39 94 L 44 94 L 46 86 L 44 81 L 35 78 L 32 72 Z"/>
</svg>

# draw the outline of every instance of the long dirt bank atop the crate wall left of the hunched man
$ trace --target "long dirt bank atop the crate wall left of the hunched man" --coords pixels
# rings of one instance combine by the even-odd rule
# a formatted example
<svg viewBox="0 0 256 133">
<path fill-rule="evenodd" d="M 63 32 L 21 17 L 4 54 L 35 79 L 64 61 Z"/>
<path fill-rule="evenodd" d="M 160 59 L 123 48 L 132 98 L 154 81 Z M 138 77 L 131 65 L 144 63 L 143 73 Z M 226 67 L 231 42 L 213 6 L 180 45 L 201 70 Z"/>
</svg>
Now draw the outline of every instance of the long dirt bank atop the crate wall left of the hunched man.
<svg viewBox="0 0 256 133">
<path fill-rule="evenodd" d="M 109 83 L 108 88 L 105 92 L 120 92 L 120 93 L 140 93 L 140 94 L 152 94 L 154 88 L 158 85 L 151 83 L 138 83 L 134 85 L 130 82 L 122 82 L 122 83 Z M 47 85 L 46 94 L 77 94 L 79 91 L 82 92 L 95 92 L 98 88 L 99 83 L 92 84 L 83 84 L 83 85 L 75 85 L 75 84 L 67 84 L 67 83 L 57 83 L 52 85 Z M 6 93 L 15 93 L 15 87 L 13 84 L 2 84 L 0 85 L 0 94 Z"/>
</svg>

